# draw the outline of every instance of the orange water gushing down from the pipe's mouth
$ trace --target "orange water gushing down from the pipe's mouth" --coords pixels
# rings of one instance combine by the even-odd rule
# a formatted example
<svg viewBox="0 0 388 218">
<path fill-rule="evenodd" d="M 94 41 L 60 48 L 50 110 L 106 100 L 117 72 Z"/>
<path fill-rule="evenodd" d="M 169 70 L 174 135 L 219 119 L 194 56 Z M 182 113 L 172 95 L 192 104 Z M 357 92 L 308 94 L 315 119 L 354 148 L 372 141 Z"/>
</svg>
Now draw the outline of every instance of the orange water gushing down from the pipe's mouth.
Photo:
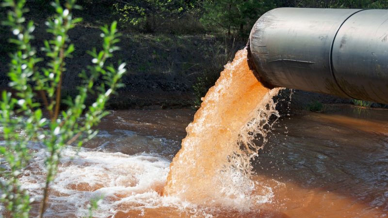
<svg viewBox="0 0 388 218">
<path fill-rule="evenodd" d="M 251 198 L 250 159 L 261 147 L 252 140 L 266 141 L 270 117 L 278 117 L 272 97 L 279 90 L 261 85 L 246 56 L 246 49 L 237 52 L 204 97 L 170 165 L 164 195 L 239 210 L 259 201 Z"/>
</svg>

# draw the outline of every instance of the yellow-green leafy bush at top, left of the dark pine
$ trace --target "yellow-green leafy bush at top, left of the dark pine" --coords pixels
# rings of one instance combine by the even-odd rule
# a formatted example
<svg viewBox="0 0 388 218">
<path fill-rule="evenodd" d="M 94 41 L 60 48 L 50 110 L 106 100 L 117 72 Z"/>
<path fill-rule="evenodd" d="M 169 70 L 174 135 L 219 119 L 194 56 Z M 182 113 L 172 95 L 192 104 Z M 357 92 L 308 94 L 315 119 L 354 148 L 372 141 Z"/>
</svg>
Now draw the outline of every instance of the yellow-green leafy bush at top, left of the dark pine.
<svg viewBox="0 0 388 218">
<path fill-rule="evenodd" d="M 122 29 L 145 32 L 193 33 L 202 15 L 202 0 L 112 1 L 113 15 Z"/>
</svg>

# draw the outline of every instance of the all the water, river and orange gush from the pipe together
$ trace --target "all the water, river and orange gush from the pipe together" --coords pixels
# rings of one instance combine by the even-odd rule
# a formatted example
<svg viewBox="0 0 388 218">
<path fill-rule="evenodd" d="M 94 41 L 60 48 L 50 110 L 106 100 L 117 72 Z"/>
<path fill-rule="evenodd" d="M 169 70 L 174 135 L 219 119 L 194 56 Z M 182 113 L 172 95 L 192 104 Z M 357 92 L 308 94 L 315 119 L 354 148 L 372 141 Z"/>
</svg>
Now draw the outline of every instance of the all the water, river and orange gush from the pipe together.
<svg viewBox="0 0 388 218">
<path fill-rule="evenodd" d="M 65 148 L 45 216 L 84 217 L 101 198 L 95 217 L 388 217 L 388 110 L 279 118 L 278 91 L 257 81 L 243 49 L 195 115 L 111 111 L 94 140 Z M 46 151 L 31 148 L 20 181 L 36 216 Z"/>
</svg>

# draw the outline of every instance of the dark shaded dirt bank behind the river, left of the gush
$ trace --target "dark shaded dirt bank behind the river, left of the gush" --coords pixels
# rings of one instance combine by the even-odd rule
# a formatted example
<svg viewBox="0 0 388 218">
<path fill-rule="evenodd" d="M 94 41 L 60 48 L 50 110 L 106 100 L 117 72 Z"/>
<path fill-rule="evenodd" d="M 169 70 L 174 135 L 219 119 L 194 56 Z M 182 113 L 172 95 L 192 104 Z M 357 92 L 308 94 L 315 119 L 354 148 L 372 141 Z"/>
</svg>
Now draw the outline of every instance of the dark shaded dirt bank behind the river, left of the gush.
<svg viewBox="0 0 388 218">
<path fill-rule="evenodd" d="M 101 47 L 100 32 L 97 26 L 85 22 L 69 32 L 76 50 L 73 58 L 66 60 L 64 95 L 76 94 L 75 87 L 80 84 L 77 75 L 91 64 L 92 58 L 87 51 Z M 4 28 L 0 33 L 2 39 L 11 36 Z M 34 36 L 33 45 L 37 48 L 43 46 L 44 39 L 50 38 L 43 21 L 36 23 Z M 124 33 L 120 39 L 121 50 L 114 53 L 112 62 L 126 62 L 128 73 L 122 79 L 124 87 L 110 101 L 113 108 L 191 106 L 194 102 L 192 86 L 197 77 L 204 72 L 213 55 L 225 50 L 220 38 L 206 34 Z M 5 47 L 0 50 L 0 87 L 4 88 L 8 84 L 8 53 L 12 51 L 12 45 L 5 40 L 1 43 Z M 43 57 L 44 54 L 37 50 Z"/>
</svg>

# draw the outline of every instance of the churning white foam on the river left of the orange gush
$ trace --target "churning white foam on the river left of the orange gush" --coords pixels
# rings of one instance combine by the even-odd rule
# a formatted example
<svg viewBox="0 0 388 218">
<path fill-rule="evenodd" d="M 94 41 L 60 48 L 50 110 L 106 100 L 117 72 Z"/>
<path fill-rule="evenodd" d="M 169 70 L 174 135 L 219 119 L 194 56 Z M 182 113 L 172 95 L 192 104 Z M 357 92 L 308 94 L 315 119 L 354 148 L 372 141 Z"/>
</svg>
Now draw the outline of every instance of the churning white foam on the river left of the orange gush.
<svg viewBox="0 0 388 218">
<path fill-rule="evenodd" d="M 77 155 L 78 154 L 78 155 Z M 40 149 L 32 160 L 31 171 L 20 178 L 37 201 L 41 200 L 44 185 L 44 156 Z M 146 153 L 129 156 L 122 153 L 103 153 L 88 149 L 77 151 L 66 147 L 58 167 L 58 174 L 50 188 L 50 206 L 46 216 L 87 215 L 87 204 L 93 198 L 104 197 L 97 217 L 107 217 L 116 211 L 115 205 L 133 202 L 155 207 L 171 199 L 162 198 L 170 161 Z"/>
</svg>

